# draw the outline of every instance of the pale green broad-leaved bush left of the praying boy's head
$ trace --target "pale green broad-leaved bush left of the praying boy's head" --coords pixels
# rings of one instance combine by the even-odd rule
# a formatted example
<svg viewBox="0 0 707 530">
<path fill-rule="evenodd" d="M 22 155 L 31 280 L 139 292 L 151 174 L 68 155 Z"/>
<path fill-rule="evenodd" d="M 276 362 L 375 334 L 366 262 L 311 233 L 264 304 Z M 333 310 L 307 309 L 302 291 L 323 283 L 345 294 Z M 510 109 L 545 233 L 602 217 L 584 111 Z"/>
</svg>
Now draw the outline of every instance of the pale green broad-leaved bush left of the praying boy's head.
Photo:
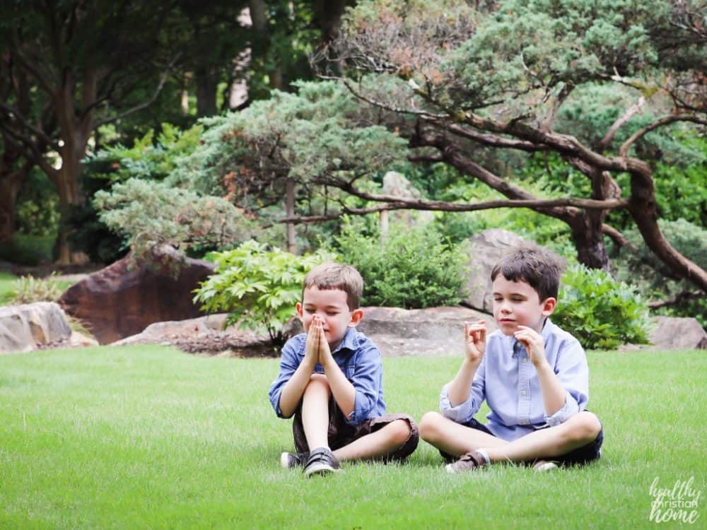
<svg viewBox="0 0 707 530">
<path fill-rule="evenodd" d="M 333 255 L 295 256 L 250 240 L 209 258 L 216 272 L 194 291 L 194 302 L 202 302 L 201 309 L 209 312 L 228 311 L 227 324 L 264 327 L 273 343 L 281 344 L 282 326 L 295 314 L 305 274 Z"/>
</svg>

